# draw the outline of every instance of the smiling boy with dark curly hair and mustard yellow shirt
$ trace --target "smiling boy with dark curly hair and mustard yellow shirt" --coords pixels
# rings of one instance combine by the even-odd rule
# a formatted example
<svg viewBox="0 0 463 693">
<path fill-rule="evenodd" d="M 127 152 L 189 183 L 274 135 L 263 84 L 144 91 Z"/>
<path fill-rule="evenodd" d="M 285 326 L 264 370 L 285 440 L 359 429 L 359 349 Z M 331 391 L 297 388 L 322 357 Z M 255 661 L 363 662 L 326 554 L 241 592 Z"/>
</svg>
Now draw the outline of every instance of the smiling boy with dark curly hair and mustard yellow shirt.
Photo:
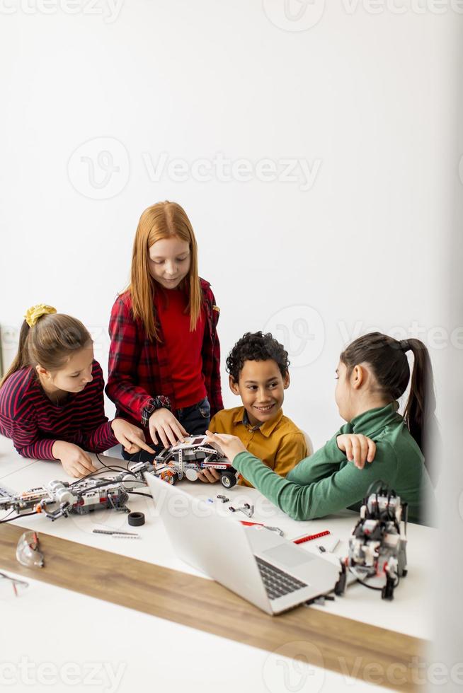
<svg viewBox="0 0 463 693">
<path fill-rule="evenodd" d="M 222 409 L 209 426 L 212 433 L 238 436 L 248 452 L 282 477 L 309 454 L 304 433 L 281 408 L 290 386 L 287 356 L 270 332 L 246 332 L 227 357 L 230 390 L 243 406 Z M 219 476 L 205 470 L 200 478 L 215 482 Z M 252 487 L 246 479 L 240 483 Z"/>
</svg>

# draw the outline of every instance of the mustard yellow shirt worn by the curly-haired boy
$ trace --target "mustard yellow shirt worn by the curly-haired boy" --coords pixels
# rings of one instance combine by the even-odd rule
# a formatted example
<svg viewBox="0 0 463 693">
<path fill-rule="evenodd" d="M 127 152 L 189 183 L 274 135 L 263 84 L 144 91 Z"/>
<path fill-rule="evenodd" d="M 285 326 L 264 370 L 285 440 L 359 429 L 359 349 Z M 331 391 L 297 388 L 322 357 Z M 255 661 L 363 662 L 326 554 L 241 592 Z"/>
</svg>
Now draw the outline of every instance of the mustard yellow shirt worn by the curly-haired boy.
<svg viewBox="0 0 463 693">
<path fill-rule="evenodd" d="M 265 421 L 261 426 L 248 423 L 244 407 L 222 409 L 212 417 L 209 429 L 212 433 L 237 436 L 251 455 L 282 477 L 307 456 L 304 433 L 291 419 L 283 416 L 282 409 L 274 419 Z M 244 478 L 239 483 L 253 488 Z"/>
</svg>

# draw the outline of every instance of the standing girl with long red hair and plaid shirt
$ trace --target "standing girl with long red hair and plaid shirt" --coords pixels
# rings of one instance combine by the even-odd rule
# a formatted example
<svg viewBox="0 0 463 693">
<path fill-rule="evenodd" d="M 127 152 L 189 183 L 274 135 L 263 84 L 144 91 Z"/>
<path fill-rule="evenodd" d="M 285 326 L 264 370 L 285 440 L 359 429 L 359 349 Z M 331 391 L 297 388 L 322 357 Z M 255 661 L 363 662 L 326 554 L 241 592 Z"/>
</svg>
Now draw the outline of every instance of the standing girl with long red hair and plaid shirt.
<svg viewBox="0 0 463 693">
<path fill-rule="evenodd" d="M 106 392 L 118 415 L 164 446 L 204 433 L 223 408 L 219 308 L 198 276 L 188 216 L 158 202 L 140 217 L 128 289 L 111 311 Z"/>
</svg>

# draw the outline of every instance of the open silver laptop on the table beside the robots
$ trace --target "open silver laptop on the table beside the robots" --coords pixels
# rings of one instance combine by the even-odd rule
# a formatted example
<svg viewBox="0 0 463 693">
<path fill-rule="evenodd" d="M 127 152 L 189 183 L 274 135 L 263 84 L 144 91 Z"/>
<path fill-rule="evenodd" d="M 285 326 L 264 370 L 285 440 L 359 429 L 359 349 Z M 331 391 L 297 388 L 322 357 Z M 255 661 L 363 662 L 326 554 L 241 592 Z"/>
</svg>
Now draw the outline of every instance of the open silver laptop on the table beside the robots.
<svg viewBox="0 0 463 693">
<path fill-rule="evenodd" d="M 245 527 L 153 474 L 144 476 L 178 557 L 263 611 L 279 614 L 333 590 L 336 564 L 263 527 Z"/>
</svg>

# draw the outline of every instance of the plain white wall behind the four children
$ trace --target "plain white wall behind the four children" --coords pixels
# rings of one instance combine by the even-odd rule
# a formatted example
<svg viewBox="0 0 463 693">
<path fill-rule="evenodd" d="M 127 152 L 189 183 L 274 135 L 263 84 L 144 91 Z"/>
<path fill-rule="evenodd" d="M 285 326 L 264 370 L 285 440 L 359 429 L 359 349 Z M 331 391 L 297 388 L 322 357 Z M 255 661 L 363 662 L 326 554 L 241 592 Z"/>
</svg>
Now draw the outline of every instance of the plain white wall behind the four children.
<svg viewBox="0 0 463 693">
<path fill-rule="evenodd" d="M 106 368 L 139 215 L 163 199 L 193 223 L 223 356 L 273 330 L 293 364 L 285 412 L 316 447 L 341 423 L 346 342 L 379 328 L 445 351 L 456 4 L 291 0 L 288 19 L 283 0 L 70 1 L 1 2 L 6 361 L 25 309 L 45 302 L 91 327 Z M 248 163 L 221 172 L 217 156 Z M 299 164 L 295 180 L 262 180 L 288 159 L 309 182 Z"/>
</svg>

